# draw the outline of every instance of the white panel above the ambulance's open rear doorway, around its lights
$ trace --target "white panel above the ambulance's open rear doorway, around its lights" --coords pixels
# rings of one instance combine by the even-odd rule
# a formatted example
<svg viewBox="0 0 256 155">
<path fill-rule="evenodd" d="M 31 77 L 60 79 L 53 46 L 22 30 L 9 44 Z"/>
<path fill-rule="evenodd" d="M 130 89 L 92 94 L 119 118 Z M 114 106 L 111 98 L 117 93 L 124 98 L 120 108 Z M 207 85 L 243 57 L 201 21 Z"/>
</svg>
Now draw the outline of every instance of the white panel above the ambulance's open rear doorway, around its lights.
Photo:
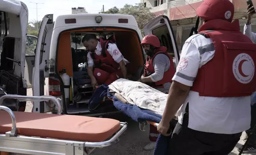
<svg viewBox="0 0 256 155">
<path fill-rule="evenodd" d="M 101 16 L 101 23 L 96 23 L 95 17 Z M 65 23 L 65 19 L 76 19 L 76 23 Z M 119 19 L 126 19 L 128 23 L 121 22 Z M 62 26 L 117 26 L 126 25 L 126 26 L 136 26 L 138 24 L 136 19 L 132 15 L 120 15 L 120 14 L 105 14 L 105 13 L 82 13 L 82 14 L 70 14 L 70 15 L 60 15 L 56 18 L 54 23 L 54 28 Z"/>
</svg>

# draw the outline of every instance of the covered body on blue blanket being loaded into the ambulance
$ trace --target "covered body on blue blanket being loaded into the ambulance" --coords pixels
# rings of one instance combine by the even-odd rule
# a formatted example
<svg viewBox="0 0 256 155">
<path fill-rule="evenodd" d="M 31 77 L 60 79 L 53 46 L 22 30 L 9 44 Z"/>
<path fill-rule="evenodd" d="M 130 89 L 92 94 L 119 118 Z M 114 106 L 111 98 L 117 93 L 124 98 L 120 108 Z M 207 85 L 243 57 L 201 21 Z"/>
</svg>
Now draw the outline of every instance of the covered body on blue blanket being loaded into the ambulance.
<svg viewBox="0 0 256 155">
<path fill-rule="evenodd" d="M 120 94 L 129 104 L 121 102 L 113 95 L 114 93 Z M 109 87 L 107 85 L 98 87 L 89 102 L 89 106 L 95 106 L 105 96 L 112 98 L 114 106 L 134 121 L 153 121 L 159 123 L 168 95 L 141 82 L 118 79 L 111 83 Z M 172 129 L 174 129 L 175 125 L 176 121 L 171 121 L 170 126 Z M 159 135 L 154 155 L 169 155 L 170 139 L 170 136 Z"/>
</svg>

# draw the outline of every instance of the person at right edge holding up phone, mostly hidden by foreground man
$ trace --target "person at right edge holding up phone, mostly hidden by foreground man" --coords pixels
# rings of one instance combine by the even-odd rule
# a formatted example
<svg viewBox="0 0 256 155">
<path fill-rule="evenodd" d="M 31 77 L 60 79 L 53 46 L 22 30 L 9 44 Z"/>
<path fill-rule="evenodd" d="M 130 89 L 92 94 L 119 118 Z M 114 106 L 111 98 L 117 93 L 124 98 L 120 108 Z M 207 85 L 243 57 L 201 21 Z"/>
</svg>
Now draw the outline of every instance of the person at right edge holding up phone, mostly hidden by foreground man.
<svg viewBox="0 0 256 155">
<path fill-rule="evenodd" d="M 252 42 L 256 43 L 256 34 L 252 32 L 251 27 L 251 21 L 252 21 L 252 15 L 255 14 L 254 7 L 247 7 L 247 21 L 244 25 L 244 34 L 248 36 Z M 246 137 L 244 138 L 244 141 L 247 140 L 248 134 L 252 131 L 253 127 L 256 125 L 256 92 L 254 92 L 251 96 L 251 125 L 250 129 L 246 130 Z M 242 149 L 243 146 L 239 147 L 239 151 Z M 252 134 L 248 144 L 246 145 L 243 153 L 250 153 L 256 151 L 256 132 Z"/>
</svg>

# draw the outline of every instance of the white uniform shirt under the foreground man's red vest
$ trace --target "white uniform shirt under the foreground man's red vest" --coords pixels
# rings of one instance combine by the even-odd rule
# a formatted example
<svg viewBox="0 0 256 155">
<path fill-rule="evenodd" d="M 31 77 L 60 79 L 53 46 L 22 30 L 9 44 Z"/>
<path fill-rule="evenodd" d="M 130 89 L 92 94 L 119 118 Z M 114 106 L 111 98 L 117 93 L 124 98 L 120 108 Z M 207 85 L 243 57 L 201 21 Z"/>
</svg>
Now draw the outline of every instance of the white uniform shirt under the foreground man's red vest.
<svg viewBox="0 0 256 155">
<path fill-rule="evenodd" d="M 173 80 L 192 86 L 198 68 L 211 60 L 214 53 L 215 48 L 210 38 L 205 38 L 200 34 L 191 36 L 182 47 L 180 61 Z M 182 124 L 188 102 L 188 128 L 190 129 L 219 134 L 235 134 L 250 128 L 250 96 L 206 97 L 199 96 L 198 92 L 190 91 L 186 101 L 178 110 L 180 124 Z"/>
</svg>

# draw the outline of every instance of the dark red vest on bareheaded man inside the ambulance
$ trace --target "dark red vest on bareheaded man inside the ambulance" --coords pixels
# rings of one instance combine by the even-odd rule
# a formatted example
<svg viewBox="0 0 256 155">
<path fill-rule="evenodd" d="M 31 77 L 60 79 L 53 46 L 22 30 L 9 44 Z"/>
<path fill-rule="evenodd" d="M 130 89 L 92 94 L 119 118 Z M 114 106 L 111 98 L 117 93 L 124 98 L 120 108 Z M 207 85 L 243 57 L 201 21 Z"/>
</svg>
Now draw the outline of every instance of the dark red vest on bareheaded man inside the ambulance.
<svg viewBox="0 0 256 155">
<path fill-rule="evenodd" d="M 112 42 L 109 40 L 104 41 L 102 38 L 100 38 L 100 43 L 102 47 L 101 55 L 97 55 L 95 54 L 95 52 L 93 52 L 90 53 L 91 58 L 93 59 L 95 68 L 100 68 L 101 70 L 104 70 L 111 74 L 115 72 L 120 66 L 117 62 L 115 62 L 115 60 L 107 51 L 107 48 L 109 47 L 108 44 Z"/>
</svg>

